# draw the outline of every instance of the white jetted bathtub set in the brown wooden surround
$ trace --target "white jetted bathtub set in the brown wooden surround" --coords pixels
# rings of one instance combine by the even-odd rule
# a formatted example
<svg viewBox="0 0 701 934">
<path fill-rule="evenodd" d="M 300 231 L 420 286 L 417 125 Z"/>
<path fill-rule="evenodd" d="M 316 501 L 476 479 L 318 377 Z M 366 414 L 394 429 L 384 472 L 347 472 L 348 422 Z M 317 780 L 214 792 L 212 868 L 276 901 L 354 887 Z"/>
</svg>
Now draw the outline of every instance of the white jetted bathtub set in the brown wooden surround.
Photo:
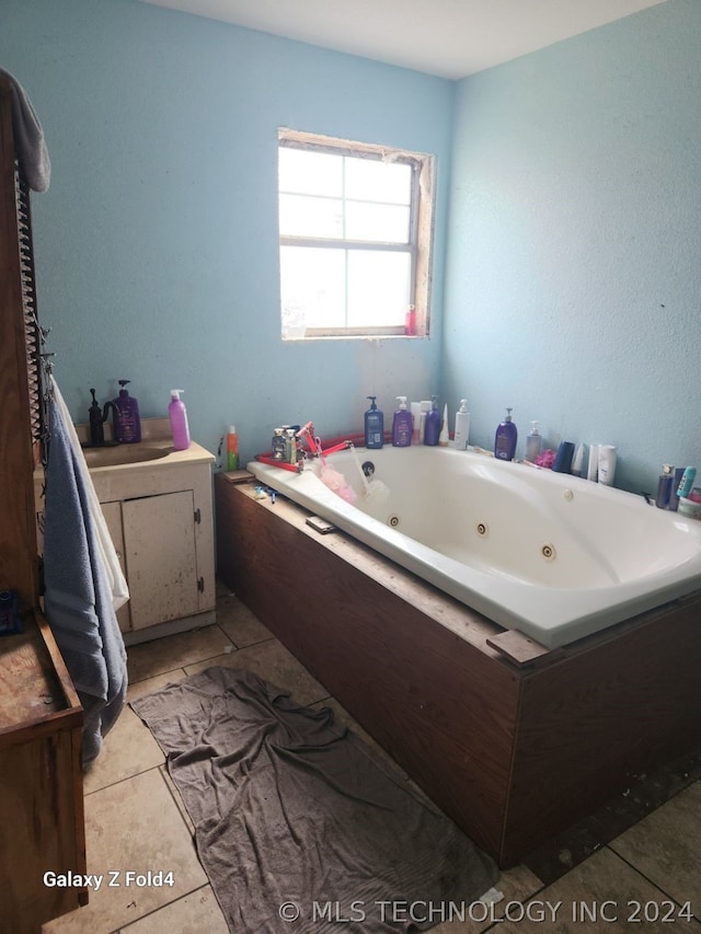
<svg viewBox="0 0 701 934">
<path fill-rule="evenodd" d="M 263 483 L 506 629 L 550 647 L 701 588 L 701 522 L 642 496 L 451 448 L 357 449 L 386 497 L 367 496 L 349 451 L 319 478 L 258 462 Z"/>
</svg>

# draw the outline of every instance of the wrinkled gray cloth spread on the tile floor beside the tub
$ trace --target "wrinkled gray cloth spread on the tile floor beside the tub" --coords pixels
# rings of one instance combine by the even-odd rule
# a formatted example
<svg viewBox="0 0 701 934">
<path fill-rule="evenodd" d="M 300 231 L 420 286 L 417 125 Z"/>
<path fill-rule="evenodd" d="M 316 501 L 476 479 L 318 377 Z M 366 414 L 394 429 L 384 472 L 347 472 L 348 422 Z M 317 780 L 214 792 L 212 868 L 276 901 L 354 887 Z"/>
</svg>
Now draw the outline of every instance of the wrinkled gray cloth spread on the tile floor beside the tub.
<svg viewBox="0 0 701 934">
<path fill-rule="evenodd" d="M 498 877 L 329 707 L 229 668 L 131 706 L 168 756 L 232 932 L 426 930 Z"/>
</svg>

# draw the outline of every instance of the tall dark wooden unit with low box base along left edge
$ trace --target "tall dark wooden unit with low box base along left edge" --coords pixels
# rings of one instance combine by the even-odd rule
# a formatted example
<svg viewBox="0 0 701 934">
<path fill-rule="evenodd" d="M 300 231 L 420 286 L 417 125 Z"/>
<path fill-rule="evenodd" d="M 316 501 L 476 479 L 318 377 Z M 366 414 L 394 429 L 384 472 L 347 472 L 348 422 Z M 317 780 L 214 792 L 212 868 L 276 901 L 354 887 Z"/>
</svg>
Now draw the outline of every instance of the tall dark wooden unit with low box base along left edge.
<svg viewBox="0 0 701 934">
<path fill-rule="evenodd" d="M 87 901 L 45 873 L 85 873 L 82 710 L 38 606 L 33 472 L 42 438 L 28 192 L 15 157 L 11 90 L 0 77 L 0 591 L 24 632 L 0 636 L 0 934 Z"/>
</svg>

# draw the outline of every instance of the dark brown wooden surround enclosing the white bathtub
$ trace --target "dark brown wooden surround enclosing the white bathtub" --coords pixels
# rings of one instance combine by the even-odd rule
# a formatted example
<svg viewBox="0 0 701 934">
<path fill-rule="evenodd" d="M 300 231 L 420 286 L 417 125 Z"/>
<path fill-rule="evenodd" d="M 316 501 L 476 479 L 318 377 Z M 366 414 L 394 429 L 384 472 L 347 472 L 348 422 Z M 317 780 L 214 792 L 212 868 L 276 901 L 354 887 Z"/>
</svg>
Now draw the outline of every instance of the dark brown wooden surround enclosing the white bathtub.
<svg viewBox="0 0 701 934">
<path fill-rule="evenodd" d="M 701 741 L 701 592 L 548 650 L 239 478 L 219 576 L 502 867 Z"/>
</svg>

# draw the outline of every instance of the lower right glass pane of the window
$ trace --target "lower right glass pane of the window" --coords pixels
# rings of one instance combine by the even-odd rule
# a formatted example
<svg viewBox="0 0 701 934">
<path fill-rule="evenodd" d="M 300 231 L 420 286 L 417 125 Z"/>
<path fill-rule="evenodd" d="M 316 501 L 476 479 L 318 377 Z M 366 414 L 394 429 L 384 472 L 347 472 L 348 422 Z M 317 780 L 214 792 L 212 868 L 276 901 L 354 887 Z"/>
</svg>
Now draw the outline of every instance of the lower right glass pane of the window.
<svg viewBox="0 0 701 934">
<path fill-rule="evenodd" d="M 411 255 L 348 251 L 348 327 L 403 325 Z"/>
</svg>

